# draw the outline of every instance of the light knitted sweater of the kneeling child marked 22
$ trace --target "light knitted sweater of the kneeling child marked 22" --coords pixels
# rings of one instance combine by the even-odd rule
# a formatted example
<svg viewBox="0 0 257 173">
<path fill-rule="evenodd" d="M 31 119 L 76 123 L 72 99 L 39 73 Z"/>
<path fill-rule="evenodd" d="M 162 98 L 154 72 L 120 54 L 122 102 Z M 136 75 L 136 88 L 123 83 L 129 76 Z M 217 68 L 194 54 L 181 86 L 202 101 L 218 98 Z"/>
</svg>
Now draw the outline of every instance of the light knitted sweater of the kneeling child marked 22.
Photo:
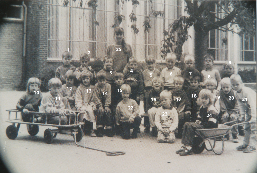
<svg viewBox="0 0 257 173">
<path fill-rule="evenodd" d="M 121 101 L 116 108 L 116 123 L 120 125 L 121 122 L 128 122 L 128 119 L 139 116 L 139 106 L 133 99 L 128 99 L 127 102 Z"/>
</svg>

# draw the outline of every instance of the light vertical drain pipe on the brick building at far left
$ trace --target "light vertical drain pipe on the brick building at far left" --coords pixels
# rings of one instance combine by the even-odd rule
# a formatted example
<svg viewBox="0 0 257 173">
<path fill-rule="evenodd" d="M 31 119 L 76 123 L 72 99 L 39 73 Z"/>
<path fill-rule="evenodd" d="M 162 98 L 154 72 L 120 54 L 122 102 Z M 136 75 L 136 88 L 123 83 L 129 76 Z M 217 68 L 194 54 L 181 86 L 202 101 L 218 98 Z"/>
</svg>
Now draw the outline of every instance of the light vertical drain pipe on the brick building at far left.
<svg viewBox="0 0 257 173">
<path fill-rule="evenodd" d="M 27 30 L 27 6 L 24 1 L 22 1 L 22 5 L 24 7 L 24 26 L 23 26 L 23 51 L 22 51 L 22 82 L 25 82 L 25 56 L 26 56 L 26 30 Z"/>
</svg>

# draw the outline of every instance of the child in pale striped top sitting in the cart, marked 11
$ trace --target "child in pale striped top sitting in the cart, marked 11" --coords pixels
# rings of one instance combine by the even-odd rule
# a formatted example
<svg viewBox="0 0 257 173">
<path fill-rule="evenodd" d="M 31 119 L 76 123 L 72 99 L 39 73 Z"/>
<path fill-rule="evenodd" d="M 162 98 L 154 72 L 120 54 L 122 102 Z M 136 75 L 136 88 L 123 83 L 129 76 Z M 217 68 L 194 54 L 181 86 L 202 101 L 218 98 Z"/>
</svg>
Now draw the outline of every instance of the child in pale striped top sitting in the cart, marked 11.
<svg viewBox="0 0 257 173">
<path fill-rule="evenodd" d="M 58 96 L 62 87 L 62 82 L 60 81 L 60 79 L 50 79 L 48 82 L 48 87 L 50 91 L 47 92 L 43 97 L 41 105 L 39 107 L 39 112 L 59 114 L 61 115 L 61 125 L 65 125 L 68 122 L 68 118 L 66 115 L 70 113 L 76 115 L 76 113 L 74 111 L 71 111 L 67 98 L 60 98 L 60 96 Z M 59 116 L 48 116 L 47 123 L 59 124 Z"/>
</svg>

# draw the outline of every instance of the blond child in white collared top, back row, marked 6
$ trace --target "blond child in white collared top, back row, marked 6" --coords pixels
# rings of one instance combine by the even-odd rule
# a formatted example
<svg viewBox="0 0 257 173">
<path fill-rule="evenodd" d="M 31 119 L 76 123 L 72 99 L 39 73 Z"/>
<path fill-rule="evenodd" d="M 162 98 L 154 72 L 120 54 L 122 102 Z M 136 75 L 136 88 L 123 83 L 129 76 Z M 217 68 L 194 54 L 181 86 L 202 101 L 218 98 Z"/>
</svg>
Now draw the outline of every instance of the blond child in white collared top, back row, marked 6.
<svg viewBox="0 0 257 173">
<path fill-rule="evenodd" d="M 172 90 L 174 86 L 174 76 L 181 75 L 181 70 L 175 67 L 177 57 L 174 54 L 168 53 L 166 56 L 167 67 L 161 71 L 161 77 L 164 81 L 164 90 Z"/>
</svg>

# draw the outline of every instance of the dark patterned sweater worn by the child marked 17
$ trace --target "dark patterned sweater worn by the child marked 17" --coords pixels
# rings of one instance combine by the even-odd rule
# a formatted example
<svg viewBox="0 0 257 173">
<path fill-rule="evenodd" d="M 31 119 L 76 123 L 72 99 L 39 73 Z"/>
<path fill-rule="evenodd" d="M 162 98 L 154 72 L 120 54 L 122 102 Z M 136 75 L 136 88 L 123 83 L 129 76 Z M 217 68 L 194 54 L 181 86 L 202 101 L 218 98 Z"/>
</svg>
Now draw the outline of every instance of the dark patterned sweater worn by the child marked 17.
<svg viewBox="0 0 257 173">
<path fill-rule="evenodd" d="M 171 90 L 172 105 L 175 107 L 178 113 L 182 111 L 189 111 L 191 106 L 187 94 L 184 90 L 176 92 L 175 89 Z"/>
</svg>

